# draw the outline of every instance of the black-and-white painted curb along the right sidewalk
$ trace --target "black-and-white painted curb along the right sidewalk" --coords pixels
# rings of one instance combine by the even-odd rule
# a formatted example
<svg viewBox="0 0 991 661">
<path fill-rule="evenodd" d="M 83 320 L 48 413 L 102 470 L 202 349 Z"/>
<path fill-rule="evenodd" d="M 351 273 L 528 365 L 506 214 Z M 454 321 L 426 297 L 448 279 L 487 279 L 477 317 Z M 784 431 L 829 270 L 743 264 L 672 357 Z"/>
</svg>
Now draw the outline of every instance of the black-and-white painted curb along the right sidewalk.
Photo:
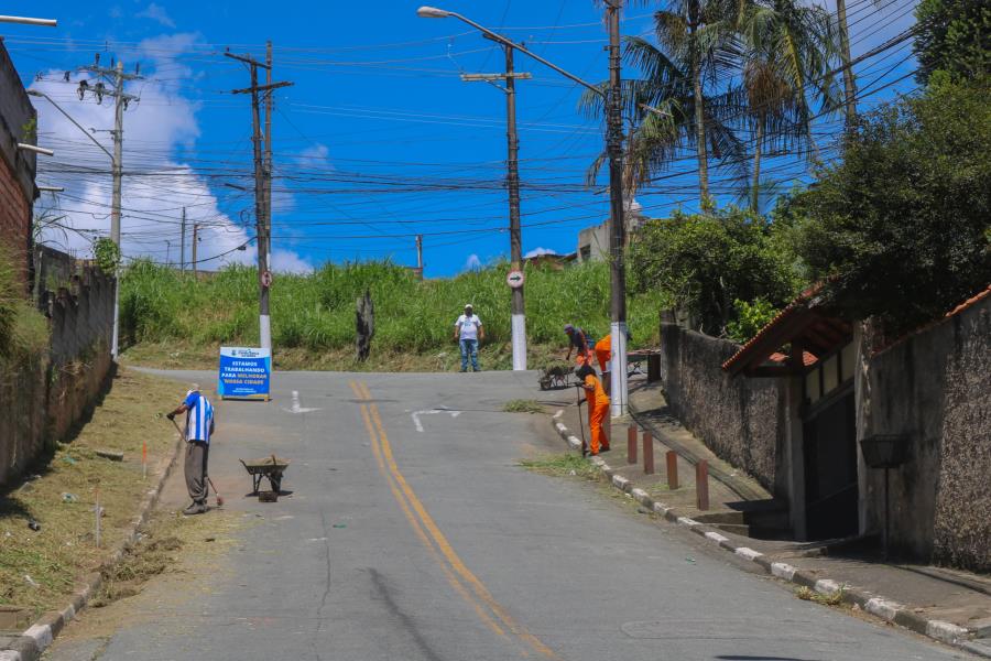
<svg viewBox="0 0 991 661">
<path fill-rule="evenodd" d="M 568 432 L 568 429 L 559 422 L 559 415 L 556 415 L 552 419 L 558 435 L 564 438 L 573 449 L 581 449 L 581 441 Z M 591 457 L 590 460 L 598 466 L 599 470 L 609 477 L 613 487 L 628 494 L 644 508 L 676 525 L 687 528 L 691 532 L 709 540 L 739 557 L 749 560 L 759 565 L 767 575 L 798 586 L 807 587 L 821 595 L 832 596 L 839 594 L 845 604 L 850 604 L 851 606 L 856 605 L 864 611 L 891 622 L 892 625 L 910 629 L 916 633 L 927 636 L 933 640 L 954 646 L 978 657 L 991 659 L 991 653 L 971 644 L 972 631 L 969 629 L 943 620 L 926 619 L 897 602 L 886 599 L 863 589 L 849 587 L 846 583 L 839 581 L 821 578 L 810 572 L 799 570 L 783 562 L 772 562 L 763 553 L 748 546 L 734 546 L 729 538 L 720 534 L 717 530 L 712 530 L 704 523 L 677 512 L 671 506 L 651 498 L 643 489 L 634 487 L 633 483 L 619 475 L 616 469 L 607 464 L 601 457 Z"/>
</svg>

